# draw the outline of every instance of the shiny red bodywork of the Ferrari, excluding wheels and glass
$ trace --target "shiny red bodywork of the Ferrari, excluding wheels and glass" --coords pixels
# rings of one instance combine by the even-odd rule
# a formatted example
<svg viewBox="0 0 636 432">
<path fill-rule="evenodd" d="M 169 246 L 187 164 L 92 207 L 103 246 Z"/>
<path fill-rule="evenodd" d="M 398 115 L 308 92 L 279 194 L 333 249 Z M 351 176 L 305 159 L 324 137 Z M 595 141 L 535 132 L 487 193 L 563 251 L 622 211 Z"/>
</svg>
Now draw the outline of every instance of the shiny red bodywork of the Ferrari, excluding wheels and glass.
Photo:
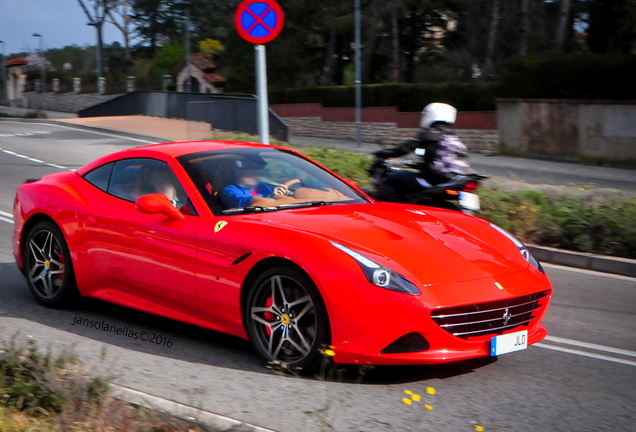
<svg viewBox="0 0 636 432">
<path fill-rule="evenodd" d="M 547 276 L 479 218 L 373 202 L 215 216 L 175 159 L 199 151 L 261 146 L 151 145 L 105 156 L 77 172 L 24 184 L 14 205 L 16 261 L 22 267 L 25 225 L 45 215 L 66 238 L 82 295 L 247 338 L 241 296 L 249 289 L 250 270 L 265 259 L 287 260 L 304 270 L 320 291 L 335 360 L 342 363 L 431 364 L 489 355 L 490 336 L 455 337 L 433 321 L 431 312 L 542 291 L 548 295 L 523 329 L 528 330 L 530 344 L 546 336 L 541 319 L 552 293 Z M 163 215 L 142 214 L 134 203 L 82 178 L 104 163 L 133 157 L 167 162 L 198 216 L 174 222 Z M 227 225 L 215 232 L 218 221 Z M 358 263 L 332 241 L 400 273 L 422 294 L 370 284 Z M 236 262 L 246 254 L 250 255 Z M 411 332 L 422 334 L 430 349 L 381 354 Z"/>
</svg>

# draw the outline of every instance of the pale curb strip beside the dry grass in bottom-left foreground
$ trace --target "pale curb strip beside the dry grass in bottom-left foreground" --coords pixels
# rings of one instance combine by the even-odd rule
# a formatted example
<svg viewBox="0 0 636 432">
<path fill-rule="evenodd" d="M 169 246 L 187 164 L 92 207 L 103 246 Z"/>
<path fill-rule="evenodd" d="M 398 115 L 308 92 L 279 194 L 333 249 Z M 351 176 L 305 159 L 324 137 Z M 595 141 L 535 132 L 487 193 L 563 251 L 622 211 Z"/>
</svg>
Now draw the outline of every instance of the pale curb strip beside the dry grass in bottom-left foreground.
<svg viewBox="0 0 636 432">
<path fill-rule="evenodd" d="M 158 396 L 153 396 L 128 387 L 117 384 L 111 384 L 113 397 L 115 399 L 128 402 L 133 405 L 148 408 L 154 411 L 160 411 L 170 414 L 184 420 L 194 421 L 204 426 L 209 426 L 221 431 L 244 431 L 244 432 L 275 432 L 272 429 L 266 429 L 240 420 L 204 411 L 190 405 L 174 402 Z"/>
</svg>

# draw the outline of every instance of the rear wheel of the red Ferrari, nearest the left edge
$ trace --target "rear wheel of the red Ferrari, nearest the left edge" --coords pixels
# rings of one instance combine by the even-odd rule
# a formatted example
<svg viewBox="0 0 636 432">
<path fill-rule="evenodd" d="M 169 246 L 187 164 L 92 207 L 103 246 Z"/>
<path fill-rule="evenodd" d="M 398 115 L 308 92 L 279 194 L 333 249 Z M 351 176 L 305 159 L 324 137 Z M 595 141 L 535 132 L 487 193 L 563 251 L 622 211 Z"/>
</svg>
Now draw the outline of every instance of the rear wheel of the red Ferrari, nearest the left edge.
<svg viewBox="0 0 636 432">
<path fill-rule="evenodd" d="M 22 246 L 24 276 L 36 300 L 60 308 L 78 297 L 75 273 L 62 231 L 51 222 L 36 224 Z"/>
</svg>

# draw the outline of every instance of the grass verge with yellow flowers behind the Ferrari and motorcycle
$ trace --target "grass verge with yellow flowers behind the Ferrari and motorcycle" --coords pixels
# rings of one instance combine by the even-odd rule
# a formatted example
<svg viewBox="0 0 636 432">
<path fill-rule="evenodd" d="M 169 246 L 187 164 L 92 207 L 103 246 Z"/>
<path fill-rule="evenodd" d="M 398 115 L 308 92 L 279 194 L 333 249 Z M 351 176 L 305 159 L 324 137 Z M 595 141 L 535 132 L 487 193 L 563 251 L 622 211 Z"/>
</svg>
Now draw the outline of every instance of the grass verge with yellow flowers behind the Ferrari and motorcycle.
<svg viewBox="0 0 636 432">
<path fill-rule="evenodd" d="M 215 132 L 210 139 L 258 142 L 258 137 L 240 133 Z M 366 172 L 371 157 L 346 150 L 297 146 L 281 141 L 272 144 L 293 148 L 359 186 L 369 184 Z M 479 216 L 510 231 L 523 241 L 541 246 L 636 258 L 636 197 L 615 192 L 578 187 L 555 193 L 518 190 L 514 181 L 500 179 L 495 187 L 479 190 Z M 529 185 L 525 185 L 527 188 Z"/>
</svg>

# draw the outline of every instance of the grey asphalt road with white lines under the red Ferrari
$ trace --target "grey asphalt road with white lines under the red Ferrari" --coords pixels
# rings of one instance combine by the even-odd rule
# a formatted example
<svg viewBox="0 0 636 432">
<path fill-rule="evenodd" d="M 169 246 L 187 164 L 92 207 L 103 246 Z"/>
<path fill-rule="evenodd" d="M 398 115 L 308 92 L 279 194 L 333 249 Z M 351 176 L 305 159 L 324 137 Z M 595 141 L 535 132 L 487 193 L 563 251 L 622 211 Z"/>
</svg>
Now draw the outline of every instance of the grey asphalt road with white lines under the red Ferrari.
<svg viewBox="0 0 636 432">
<path fill-rule="evenodd" d="M 44 133 L 20 135 L 34 132 Z M 0 211 L 11 211 L 13 191 L 26 178 L 139 144 L 0 122 Z M 17 334 L 18 341 L 33 337 L 43 348 L 73 350 L 94 373 L 123 386 L 281 431 L 629 431 L 636 424 L 636 279 L 546 266 L 555 291 L 545 319 L 551 339 L 540 346 L 496 361 L 377 368 L 362 384 L 347 369 L 344 383 L 325 383 L 274 374 L 245 341 L 103 302 L 43 308 L 13 262 L 12 227 L 0 213 L 0 339 Z M 76 316 L 160 334 L 173 346 L 73 325 Z M 429 386 L 435 395 L 426 393 Z M 405 390 L 423 401 L 405 405 Z"/>
</svg>

